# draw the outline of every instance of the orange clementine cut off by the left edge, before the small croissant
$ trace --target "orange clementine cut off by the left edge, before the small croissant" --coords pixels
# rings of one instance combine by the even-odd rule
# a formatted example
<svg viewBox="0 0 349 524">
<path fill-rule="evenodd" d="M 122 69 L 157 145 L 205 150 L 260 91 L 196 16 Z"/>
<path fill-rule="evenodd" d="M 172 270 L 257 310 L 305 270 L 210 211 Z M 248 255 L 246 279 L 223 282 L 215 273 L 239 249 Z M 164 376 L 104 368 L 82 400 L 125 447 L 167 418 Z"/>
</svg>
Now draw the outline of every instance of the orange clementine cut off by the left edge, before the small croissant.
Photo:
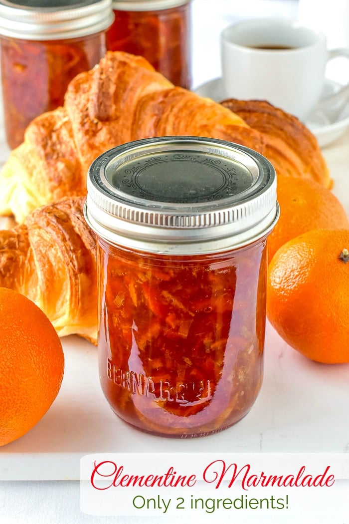
<svg viewBox="0 0 349 524">
<path fill-rule="evenodd" d="M 47 316 L 24 295 L 0 288 L 0 446 L 48 411 L 63 370 L 62 344 Z"/>
</svg>

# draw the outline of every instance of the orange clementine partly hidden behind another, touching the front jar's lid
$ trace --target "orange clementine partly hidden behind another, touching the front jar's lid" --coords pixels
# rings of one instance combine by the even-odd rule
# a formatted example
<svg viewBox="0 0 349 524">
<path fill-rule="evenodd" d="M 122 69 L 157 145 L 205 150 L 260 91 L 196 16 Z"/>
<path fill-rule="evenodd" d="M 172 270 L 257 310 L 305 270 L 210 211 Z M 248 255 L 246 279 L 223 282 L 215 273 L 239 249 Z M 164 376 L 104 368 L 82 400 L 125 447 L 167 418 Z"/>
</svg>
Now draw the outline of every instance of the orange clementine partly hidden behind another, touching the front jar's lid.
<svg viewBox="0 0 349 524">
<path fill-rule="evenodd" d="M 280 217 L 267 240 L 269 262 L 281 246 L 302 233 L 313 229 L 349 228 L 341 202 L 314 180 L 279 174 L 277 201 Z"/>
</svg>

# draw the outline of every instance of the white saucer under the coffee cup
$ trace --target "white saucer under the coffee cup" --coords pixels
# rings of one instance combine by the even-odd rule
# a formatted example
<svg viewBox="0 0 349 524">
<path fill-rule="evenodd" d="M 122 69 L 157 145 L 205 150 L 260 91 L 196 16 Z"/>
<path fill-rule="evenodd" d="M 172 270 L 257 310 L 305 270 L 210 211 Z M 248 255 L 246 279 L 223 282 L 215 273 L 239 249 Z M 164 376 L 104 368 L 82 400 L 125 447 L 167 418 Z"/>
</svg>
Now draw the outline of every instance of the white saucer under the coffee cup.
<svg viewBox="0 0 349 524">
<path fill-rule="evenodd" d="M 327 79 L 325 81 L 322 96 L 329 96 L 341 88 L 341 84 L 334 80 Z M 200 96 L 205 96 L 220 102 L 227 98 L 223 93 L 222 79 L 215 78 L 200 85 L 196 90 Z M 305 125 L 317 137 L 319 146 L 325 147 L 332 144 L 335 140 L 343 135 L 347 127 L 349 127 L 349 103 L 344 107 L 340 117 L 336 122 L 330 122 L 322 113 L 313 111 L 306 119 Z"/>
</svg>

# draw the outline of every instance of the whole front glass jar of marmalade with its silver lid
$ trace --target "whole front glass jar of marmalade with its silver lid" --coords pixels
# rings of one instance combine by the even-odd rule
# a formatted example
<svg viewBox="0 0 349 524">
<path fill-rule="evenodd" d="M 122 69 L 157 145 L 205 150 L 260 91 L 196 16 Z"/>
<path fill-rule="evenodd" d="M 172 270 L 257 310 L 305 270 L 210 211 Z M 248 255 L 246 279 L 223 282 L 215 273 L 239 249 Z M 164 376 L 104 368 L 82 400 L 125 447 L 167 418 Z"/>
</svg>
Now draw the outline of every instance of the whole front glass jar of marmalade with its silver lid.
<svg viewBox="0 0 349 524">
<path fill-rule="evenodd" d="M 263 376 L 274 168 L 222 140 L 162 137 L 107 151 L 87 184 L 111 408 L 178 438 L 238 422 Z"/>
</svg>

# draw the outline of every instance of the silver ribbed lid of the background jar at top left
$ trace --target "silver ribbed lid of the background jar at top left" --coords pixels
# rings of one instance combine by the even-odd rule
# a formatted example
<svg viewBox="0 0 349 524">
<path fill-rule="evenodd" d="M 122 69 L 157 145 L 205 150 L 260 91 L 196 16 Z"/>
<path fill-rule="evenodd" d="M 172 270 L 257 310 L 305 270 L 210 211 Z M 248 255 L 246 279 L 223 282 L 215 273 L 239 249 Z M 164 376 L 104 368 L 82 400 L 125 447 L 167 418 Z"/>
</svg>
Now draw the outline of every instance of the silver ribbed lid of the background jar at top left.
<svg viewBox="0 0 349 524">
<path fill-rule="evenodd" d="M 92 35 L 114 19 L 112 0 L 0 0 L 0 35 L 58 40 Z"/>
</svg>

